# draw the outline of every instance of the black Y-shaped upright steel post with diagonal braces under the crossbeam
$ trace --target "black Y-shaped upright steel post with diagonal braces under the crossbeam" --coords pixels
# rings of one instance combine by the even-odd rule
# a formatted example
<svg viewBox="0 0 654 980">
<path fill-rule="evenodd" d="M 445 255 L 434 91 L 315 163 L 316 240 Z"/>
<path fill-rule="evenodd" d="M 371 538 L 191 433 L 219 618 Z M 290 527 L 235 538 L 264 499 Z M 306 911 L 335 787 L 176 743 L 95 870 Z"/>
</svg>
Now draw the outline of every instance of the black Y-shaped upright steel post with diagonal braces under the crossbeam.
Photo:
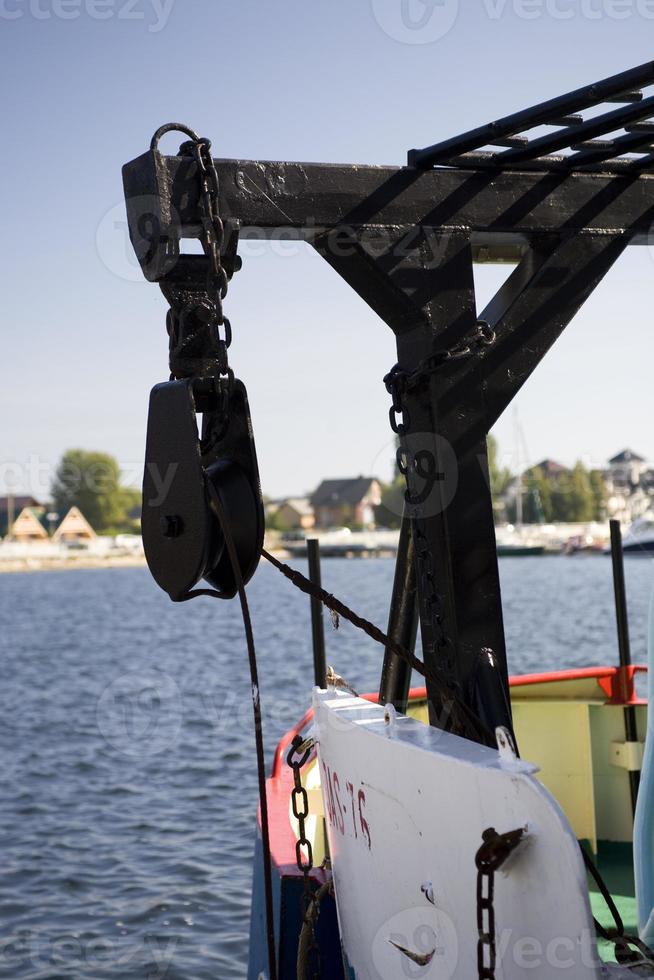
<svg viewBox="0 0 654 980">
<path fill-rule="evenodd" d="M 385 243 L 376 235 L 368 230 L 349 254 L 325 237 L 316 247 L 393 328 L 399 366 L 410 375 L 475 328 L 470 236 L 421 229 L 406 254 L 398 238 Z M 419 534 L 433 562 L 428 574 L 417 563 L 425 660 L 491 730 L 510 728 L 511 717 L 486 436 L 626 244 L 625 235 L 539 240 L 482 313 L 494 344 L 446 361 L 404 396 L 405 456 L 429 460 L 407 474 L 419 500 L 409 510 L 414 549 Z M 426 472 L 436 476 L 429 487 Z M 430 581 L 439 596 L 437 624 Z M 443 705 L 429 681 L 427 688 L 432 723 L 442 724 Z"/>
</svg>

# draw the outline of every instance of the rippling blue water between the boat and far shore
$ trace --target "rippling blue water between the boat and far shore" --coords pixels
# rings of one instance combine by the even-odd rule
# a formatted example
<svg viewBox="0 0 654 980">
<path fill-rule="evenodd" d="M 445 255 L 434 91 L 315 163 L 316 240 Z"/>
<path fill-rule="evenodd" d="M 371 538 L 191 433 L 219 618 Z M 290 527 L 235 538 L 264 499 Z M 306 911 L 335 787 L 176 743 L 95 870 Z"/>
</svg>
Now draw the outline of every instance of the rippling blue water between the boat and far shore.
<svg viewBox="0 0 654 980">
<path fill-rule="evenodd" d="M 654 569 L 626 565 L 642 660 Z M 609 559 L 500 566 L 513 672 L 615 662 Z M 382 626 L 392 575 L 323 565 Z M 270 757 L 312 684 L 308 600 L 265 564 L 249 594 Z M 237 606 L 176 606 L 142 569 L 1 575 L 0 644 L 0 977 L 244 977 L 256 775 Z M 327 645 L 376 687 L 372 641 L 344 623 Z"/>
</svg>

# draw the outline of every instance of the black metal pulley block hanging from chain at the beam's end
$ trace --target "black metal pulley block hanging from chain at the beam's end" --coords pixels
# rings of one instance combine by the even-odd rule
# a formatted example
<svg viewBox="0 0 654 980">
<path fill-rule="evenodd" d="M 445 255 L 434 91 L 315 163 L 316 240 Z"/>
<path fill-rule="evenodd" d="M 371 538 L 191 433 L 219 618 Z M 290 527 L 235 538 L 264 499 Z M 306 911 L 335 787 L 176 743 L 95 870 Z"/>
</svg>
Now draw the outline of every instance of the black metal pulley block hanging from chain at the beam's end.
<svg viewBox="0 0 654 980">
<path fill-rule="evenodd" d="M 141 526 L 152 576 L 173 600 L 186 598 L 201 579 L 221 598 L 237 592 L 214 494 L 247 582 L 261 556 L 264 516 L 245 386 L 213 377 L 156 385 L 150 393 Z"/>
</svg>

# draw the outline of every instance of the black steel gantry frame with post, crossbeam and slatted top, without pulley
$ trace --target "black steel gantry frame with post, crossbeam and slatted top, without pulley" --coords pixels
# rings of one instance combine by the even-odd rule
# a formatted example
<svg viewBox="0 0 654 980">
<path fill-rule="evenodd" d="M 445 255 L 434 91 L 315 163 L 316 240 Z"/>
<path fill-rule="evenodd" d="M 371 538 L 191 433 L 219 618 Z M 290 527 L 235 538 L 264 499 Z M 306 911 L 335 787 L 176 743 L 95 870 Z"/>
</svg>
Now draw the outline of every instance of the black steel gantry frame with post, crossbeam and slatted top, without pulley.
<svg viewBox="0 0 654 980">
<path fill-rule="evenodd" d="M 518 129 L 558 120 L 568 145 L 577 146 L 602 126 L 615 129 L 618 121 L 629 126 L 645 117 L 650 101 L 633 88 L 651 81 L 654 63 L 492 124 L 493 139 L 512 140 Z M 575 115 L 606 99 L 626 108 L 588 125 Z M 645 144 L 653 137 L 649 129 L 633 135 L 644 154 L 641 165 L 615 158 L 623 142 L 612 144 L 601 171 L 593 158 L 595 172 L 570 168 L 586 166 L 583 154 L 598 147 L 573 150 L 564 164 L 539 155 L 559 146 L 560 135 L 546 144 L 517 140 L 506 153 L 493 154 L 489 169 L 478 154 L 488 127 L 411 155 L 421 167 L 449 164 L 437 169 L 216 160 L 221 213 L 242 236 L 274 238 L 293 230 L 393 330 L 405 376 L 431 365 L 402 402 L 412 499 L 424 490 L 416 438 L 439 477 L 426 504 L 409 514 L 414 542 L 419 532 L 429 555 L 429 568 L 416 564 L 415 576 L 423 651 L 430 668 L 491 728 L 510 727 L 511 717 L 486 436 L 625 247 L 649 240 L 654 182 Z M 146 276 L 168 292 L 171 283 L 196 280 L 200 289 L 204 257 L 176 261 L 180 239 L 200 231 L 194 164 L 150 151 L 126 165 L 124 182 L 130 234 Z M 517 262 L 480 313 L 475 260 Z M 447 357 L 465 346 L 480 319 L 494 342 L 467 357 Z M 406 569 L 398 575 L 406 580 Z M 396 593 L 396 604 L 403 601 Z M 393 623 L 411 636 L 406 608 L 392 611 Z M 387 677 L 390 667 L 387 662 Z M 391 700 L 403 695 L 407 678 L 396 672 L 393 683 L 386 690 Z M 444 706 L 429 688 L 431 721 L 445 725 Z"/>
</svg>

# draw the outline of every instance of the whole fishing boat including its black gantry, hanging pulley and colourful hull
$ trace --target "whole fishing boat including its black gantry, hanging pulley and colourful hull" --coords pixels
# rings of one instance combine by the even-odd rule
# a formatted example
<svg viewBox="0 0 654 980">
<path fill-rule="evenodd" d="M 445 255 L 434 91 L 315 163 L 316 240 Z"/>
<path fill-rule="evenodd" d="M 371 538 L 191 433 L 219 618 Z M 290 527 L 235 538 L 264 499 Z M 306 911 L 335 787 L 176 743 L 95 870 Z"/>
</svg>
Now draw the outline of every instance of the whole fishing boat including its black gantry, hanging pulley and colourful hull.
<svg viewBox="0 0 654 980">
<path fill-rule="evenodd" d="M 619 663 L 510 682 L 486 445 L 627 245 L 648 241 L 653 85 L 641 65 L 404 167 L 214 159 L 169 123 L 123 168 L 131 241 L 169 304 L 146 558 L 175 602 L 237 599 L 243 617 L 260 801 L 251 980 L 654 976 L 654 735 L 643 755 L 622 549 Z M 169 156 L 171 131 L 185 140 Z M 224 303 L 239 235 L 289 230 L 396 338 L 384 381 L 406 493 L 386 631 L 322 589 L 311 553 L 307 577 L 263 545 Z M 189 238 L 201 254 L 183 252 Z M 484 261 L 515 268 L 478 311 Z M 337 356 L 334 372 L 337 391 Z M 314 640 L 313 692 L 307 678 L 270 777 L 246 588 L 262 559 L 310 597 Z M 375 697 L 327 669 L 323 608 L 383 649 Z"/>
</svg>

